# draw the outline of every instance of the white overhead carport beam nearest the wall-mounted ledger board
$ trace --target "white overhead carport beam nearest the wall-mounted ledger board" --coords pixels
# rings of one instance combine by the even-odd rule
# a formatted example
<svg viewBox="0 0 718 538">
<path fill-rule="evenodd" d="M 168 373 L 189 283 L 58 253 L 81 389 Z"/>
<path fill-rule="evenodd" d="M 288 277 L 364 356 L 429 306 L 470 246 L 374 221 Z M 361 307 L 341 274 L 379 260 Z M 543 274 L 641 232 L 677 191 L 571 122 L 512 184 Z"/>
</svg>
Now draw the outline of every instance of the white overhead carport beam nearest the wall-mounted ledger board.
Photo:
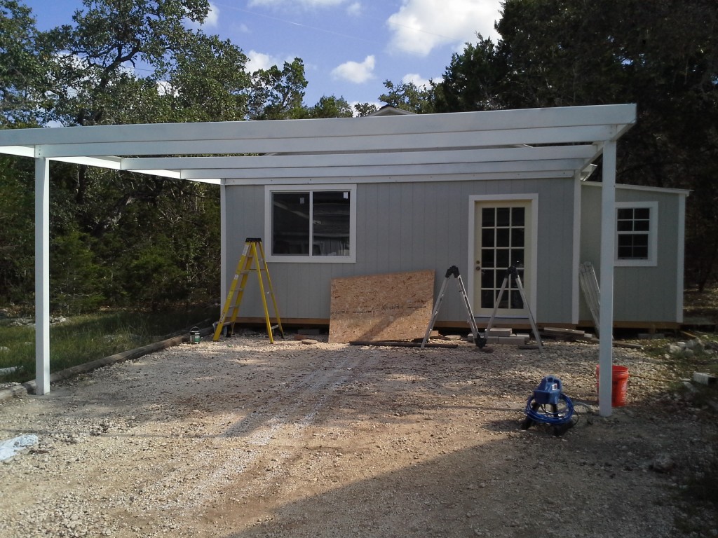
<svg viewBox="0 0 718 538">
<path fill-rule="evenodd" d="M 401 164 L 383 166 L 307 166 L 304 168 L 209 169 L 182 171 L 182 179 L 223 178 L 282 178 L 334 176 L 406 176 L 426 174 L 488 174 L 493 172 L 556 171 L 574 173 L 581 168 L 580 159 L 557 161 L 506 161 L 496 163 Z"/>
</svg>

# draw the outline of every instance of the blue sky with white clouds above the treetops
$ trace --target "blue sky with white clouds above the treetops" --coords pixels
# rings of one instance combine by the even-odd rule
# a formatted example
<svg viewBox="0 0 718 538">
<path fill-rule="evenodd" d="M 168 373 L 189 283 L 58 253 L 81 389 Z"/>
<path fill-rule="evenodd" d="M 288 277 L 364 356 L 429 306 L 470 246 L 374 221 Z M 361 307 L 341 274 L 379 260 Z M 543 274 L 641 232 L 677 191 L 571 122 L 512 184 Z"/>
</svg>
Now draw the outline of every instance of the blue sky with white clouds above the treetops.
<svg viewBox="0 0 718 538">
<path fill-rule="evenodd" d="M 24 0 L 39 29 L 72 24 L 81 0 Z M 378 103 L 383 81 L 439 79 L 476 33 L 497 35 L 500 0 L 212 0 L 202 29 L 241 47 L 249 70 L 304 61 L 304 102 Z"/>
</svg>

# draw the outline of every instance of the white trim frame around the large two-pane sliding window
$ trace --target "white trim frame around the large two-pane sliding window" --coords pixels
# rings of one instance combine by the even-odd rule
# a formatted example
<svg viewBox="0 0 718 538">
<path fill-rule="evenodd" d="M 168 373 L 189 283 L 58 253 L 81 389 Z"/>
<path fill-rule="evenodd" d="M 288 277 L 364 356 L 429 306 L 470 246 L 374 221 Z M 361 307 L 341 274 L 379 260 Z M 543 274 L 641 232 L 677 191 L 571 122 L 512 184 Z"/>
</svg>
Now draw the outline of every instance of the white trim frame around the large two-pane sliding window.
<svg viewBox="0 0 718 538">
<path fill-rule="evenodd" d="M 357 211 L 356 184 L 302 184 L 302 185 L 265 185 L 264 187 L 264 237 L 266 237 L 265 260 L 279 263 L 356 263 L 357 256 Z M 272 254 L 272 193 L 274 192 L 349 192 L 349 255 L 319 256 Z"/>
</svg>

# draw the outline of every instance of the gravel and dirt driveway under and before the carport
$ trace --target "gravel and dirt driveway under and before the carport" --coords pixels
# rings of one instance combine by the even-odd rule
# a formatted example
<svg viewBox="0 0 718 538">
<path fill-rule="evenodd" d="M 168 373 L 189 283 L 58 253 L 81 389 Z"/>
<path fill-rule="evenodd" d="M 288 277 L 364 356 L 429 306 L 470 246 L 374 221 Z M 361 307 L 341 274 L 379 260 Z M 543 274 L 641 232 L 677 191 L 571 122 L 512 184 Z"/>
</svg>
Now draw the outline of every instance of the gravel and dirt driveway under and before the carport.
<svg viewBox="0 0 718 538">
<path fill-rule="evenodd" d="M 0 536 L 672 537 L 714 423 L 616 349 L 628 405 L 596 412 L 595 344 L 478 351 L 266 336 L 183 344 L 0 405 Z M 579 422 L 519 429 L 547 374 Z M 586 402 L 588 405 L 582 405 Z"/>
</svg>

